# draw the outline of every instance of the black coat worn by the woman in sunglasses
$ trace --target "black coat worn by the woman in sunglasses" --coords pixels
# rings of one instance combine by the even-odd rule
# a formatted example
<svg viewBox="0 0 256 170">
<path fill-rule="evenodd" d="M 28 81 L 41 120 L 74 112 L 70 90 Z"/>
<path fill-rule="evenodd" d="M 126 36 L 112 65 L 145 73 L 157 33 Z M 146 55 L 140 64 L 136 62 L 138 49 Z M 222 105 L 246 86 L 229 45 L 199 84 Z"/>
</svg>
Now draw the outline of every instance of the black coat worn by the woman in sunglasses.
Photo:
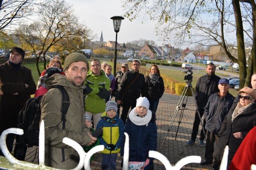
<svg viewBox="0 0 256 170">
<path fill-rule="evenodd" d="M 233 104 L 228 114 L 226 115 L 218 136 L 220 137 L 219 143 L 214 150 L 214 158 L 220 159 L 221 152 L 226 145 L 228 145 L 228 164 L 231 162 L 236 150 L 242 143 L 247 133 L 256 125 L 256 104 L 252 104 L 250 107 L 244 110 L 243 113 L 239 114 L 233 122 L 232 113 L 236 108 L 237 104 Z M 236 139 L 234 133 L 241 132 L 242 139 Z"/>
</svg>

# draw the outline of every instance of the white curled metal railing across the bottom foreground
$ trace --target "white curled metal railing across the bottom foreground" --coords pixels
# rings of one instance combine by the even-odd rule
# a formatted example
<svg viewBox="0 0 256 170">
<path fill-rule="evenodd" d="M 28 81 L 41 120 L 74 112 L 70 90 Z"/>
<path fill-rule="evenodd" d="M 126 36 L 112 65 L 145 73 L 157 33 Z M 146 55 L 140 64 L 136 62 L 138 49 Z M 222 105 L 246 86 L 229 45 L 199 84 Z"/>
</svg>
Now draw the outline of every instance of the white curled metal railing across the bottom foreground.
<svg viewBox="0 0 256 170">
<path fill-rule="evenodd" d="M 56 170 L 56 168 L 51 168 L 48 166 L 44 165 L 44 121 L 42 120 L 41 125 L 40 125 L 40 133 L 39 133 L 39 164 L 32 164 L 30 162 L 24 162 L 17 160 L 10 154 L 10 152 L 7 149 L 6 146 L 6 136 L 9 133 L 14 133 L 16 135 L 23 135 L 23 130 L 18 129 L 18 128 L 10 128 L 5 130 L 1 137 L 0 137 L 0 147 L 2 149 L 2 152 L 4 156 L 10 161 L 14 167 L 19 167 L 19 168 L 24 168 L 27 169 L 28 167 L 32 169 L 44 169 L 44 170 Z M 125 145 L 124 145 L 124 161 L 123 161 L 123 170 L 128 170 L 128 158 L 129 158 L 129 137 L 127 133 L 124 133 L 126 135 L 126 140 L 125 140 Z M 104 150 L 103 145 L 96 146 L 92 148 L 89 152 L 84 152 L 83 148 L 73 141 L 72 139 L 69 139 L 65 137 L 62 141 L 66 145 L 69 145 L 70 147 L 73 147 L 79 154 L 80 156 L 80 161 L 78 163 L 78 166 L 72 170 L 80 170 L 84 167 L 86 170 L 91 170 L 90 168 L 90 157 L 99 151 Z M 180 170 L 184 165 L 189 164 L 189 163 L 199 163 L 201 162 L 201 157 L 200 156 L 187 156 L 185 158 L 182 158 L 179 160 L 174 166 L 172 166 L 169 162 L 169 160 L 160 152 L 156 151 L 149 151 L 149 156 L 152 158 L 156 158 L 162 162 L 166 170 Z M 227 162 L 228 162 L 228 146 L 226 146 L 224 155 L 222 157 L 221 165 L 220 165 L 220 170 L 226 170 L 227 167 Z M 0 162 L 0 168 L 3 166 L 3 162 Z M 256 170 L 256 165 L 251 166 L 252 170 Z"/>
</svg>

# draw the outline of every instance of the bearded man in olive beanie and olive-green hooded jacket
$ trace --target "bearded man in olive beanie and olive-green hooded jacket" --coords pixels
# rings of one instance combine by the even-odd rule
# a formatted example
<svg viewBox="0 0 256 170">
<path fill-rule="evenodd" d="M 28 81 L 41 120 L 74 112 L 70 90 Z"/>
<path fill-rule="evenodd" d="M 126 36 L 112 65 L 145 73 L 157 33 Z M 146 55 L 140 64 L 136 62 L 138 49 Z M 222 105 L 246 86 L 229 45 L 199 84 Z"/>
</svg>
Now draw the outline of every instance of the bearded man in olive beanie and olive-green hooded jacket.
<svg viewBox="0 0 256 170">
<path fill-rule="evenodd" d="M 84 127 L 83 88 L 89 63 L 80 53 L 69 54 L 64 63 L 64 75 L 56 75 L 44 81 L 48 92 L 41 100 L 41 119 L 45 130 L 45 165 L 58 169 L 72 169 L 78 165 L 76 150 L 64 143 L 68 137 L 81 146 L 89 146 L 97 141 L 90 130 Z M 65 129 L 62 129 L 62 94 L 58 88 L 63 86 L 68 92 L 70 105 L 66 113 Z M 64 154 L 62 152 L 64 150 Z"/>
</svg>

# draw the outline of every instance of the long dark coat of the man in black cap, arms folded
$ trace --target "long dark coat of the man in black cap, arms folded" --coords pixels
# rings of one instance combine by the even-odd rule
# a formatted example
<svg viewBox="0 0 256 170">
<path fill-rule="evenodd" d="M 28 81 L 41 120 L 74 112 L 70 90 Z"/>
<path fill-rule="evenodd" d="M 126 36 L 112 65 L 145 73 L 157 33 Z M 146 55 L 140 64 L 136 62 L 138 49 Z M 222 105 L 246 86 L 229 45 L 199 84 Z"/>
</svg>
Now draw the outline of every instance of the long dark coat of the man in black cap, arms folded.
<svg viewBox="0 0 256 170">
<path fill-rule="evenodd" d="M 26 88 L 25 83 L 28 84 Z M 18 113 L 30 95 L 36 92 L 31 70 L 20 66 L 17 71 L 10 60 L 0 65 L 0 134 L 5 129 L 18 127 Z M 18 95 L 13 95 L 18 93 Z"/>
</svg>

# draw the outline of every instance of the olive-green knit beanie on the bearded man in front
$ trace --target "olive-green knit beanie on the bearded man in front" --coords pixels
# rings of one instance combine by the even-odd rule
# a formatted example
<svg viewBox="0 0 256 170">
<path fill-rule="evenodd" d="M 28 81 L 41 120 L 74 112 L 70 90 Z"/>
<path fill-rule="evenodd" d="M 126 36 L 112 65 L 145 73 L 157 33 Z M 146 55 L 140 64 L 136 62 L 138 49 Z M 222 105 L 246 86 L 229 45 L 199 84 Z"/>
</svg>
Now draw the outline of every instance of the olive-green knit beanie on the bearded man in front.
<svg viewBox="0 0 256 170">
<path fill-rule="evenodd" d="M 70 53 L 65 59 L 64 69 L 63 69 L 64 72 L 71 63 L 78 62 L 78 61 L 83 61 L 84 63 L 86 63 L 87 64 L 87 70 L 89 70 L 88 60 L 83 54 L 81 54 L 81 53 Z"/>
</svg>

